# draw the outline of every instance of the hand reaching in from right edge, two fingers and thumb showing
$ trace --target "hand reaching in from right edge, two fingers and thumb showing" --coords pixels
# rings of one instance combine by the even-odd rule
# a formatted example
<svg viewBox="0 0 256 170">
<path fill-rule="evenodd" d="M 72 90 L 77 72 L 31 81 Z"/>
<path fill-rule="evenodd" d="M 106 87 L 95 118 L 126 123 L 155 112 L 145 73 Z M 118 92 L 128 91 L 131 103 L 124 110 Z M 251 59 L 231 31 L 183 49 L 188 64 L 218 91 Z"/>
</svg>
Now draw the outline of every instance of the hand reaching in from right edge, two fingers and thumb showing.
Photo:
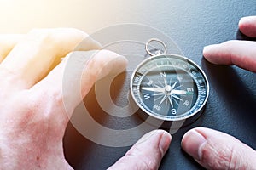
<svg viewBox="0 0 256 170">
<path fill-rule="evenodd" d="M 256 37 L 256 16 L 242 18 L 242 33 Z M 256 42 L 229 41 L 207 46 L 204 57 L 217 65 L 238 65 L 256 72 Z M 198 127 L 185 133 L 183 150 L 207 169 L 256 169 L 256 151 L 234 137 Z"/>
</svg>

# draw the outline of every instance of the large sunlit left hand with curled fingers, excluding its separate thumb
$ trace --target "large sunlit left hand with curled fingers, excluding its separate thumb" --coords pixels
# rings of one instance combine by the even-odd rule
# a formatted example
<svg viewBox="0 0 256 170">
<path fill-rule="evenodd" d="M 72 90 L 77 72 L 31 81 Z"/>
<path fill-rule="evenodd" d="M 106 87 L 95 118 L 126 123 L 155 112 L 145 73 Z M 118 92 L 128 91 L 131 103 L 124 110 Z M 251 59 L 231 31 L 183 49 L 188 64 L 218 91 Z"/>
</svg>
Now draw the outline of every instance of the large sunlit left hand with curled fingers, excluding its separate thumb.
<svg viewBox="0 0 256 170">
<path fill-rule="evenodd" d="M 67 58 L 79 53 L 88 59 L 79 77 L 83 97 L 102 70 L 108 74 L 126 65 L 124 57 L 106 50 L 90 58 L 86 50 L 98 48 L 97 42 L 75 29 L 0 36 L 0 169 L 72 169 L 63 154 L 62 138 L 80 101 L 71 100 L 68 110 L 62 101 Z M 68 54 L 77 49 L 84 52 Z"/>
</svg>

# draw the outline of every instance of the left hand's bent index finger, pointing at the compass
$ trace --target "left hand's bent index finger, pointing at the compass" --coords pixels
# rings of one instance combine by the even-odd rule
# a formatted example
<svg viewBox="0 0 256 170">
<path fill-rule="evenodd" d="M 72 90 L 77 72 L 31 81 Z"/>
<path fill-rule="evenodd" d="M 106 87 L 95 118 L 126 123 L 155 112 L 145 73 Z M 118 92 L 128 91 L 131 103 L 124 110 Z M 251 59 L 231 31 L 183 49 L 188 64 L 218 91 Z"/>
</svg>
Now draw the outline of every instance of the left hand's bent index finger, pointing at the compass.
<svg viewBox="0 0 256 170">
<path fill-rule="evenodd" d="M 63 125 L 61 127 L 66 127 L 68 117 L 98 77 L 124 71 L 126 65 L 125 57 L 107 50 L 70 53 L 47 77 L 30 89 L 31 100 L 49 108 L 48 116 L 59 120 Z"/>
</svg>

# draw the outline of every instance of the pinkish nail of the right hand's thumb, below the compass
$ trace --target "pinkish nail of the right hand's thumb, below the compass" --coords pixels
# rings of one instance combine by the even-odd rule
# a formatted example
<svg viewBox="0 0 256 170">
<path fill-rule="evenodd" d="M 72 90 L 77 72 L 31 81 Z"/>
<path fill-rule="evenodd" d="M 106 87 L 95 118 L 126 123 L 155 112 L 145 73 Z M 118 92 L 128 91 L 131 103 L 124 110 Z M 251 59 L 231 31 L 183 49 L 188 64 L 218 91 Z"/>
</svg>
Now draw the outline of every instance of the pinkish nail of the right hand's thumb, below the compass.
<svg viewBox="0 0 256 170">
<path fill-rule="evenodd" d="M 182 147 L 190 156 L 194 157 L 195 160 L 201 160 L 201 146 L 206 144 L 205 139 L 201 133 L 195 130 L 190 130 L 185 133 L 182 139 Z"/>
</svg>

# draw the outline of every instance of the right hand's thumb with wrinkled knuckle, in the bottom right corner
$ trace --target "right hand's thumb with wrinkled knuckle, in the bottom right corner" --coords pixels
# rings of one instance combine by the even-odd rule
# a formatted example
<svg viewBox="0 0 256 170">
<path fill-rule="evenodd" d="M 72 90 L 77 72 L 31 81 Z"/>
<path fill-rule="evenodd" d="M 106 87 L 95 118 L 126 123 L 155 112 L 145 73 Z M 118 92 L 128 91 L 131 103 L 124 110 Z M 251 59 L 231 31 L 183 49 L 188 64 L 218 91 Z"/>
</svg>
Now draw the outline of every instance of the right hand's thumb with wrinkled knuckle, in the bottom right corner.
<svg viewBox="0 0 256 170">
<path fill-rule="evenodd" d="M 208 128 L 185 133 L 182 147 L 207 169 L 253 169 L 256 152 L 234 137 Z"/>
</svg>

